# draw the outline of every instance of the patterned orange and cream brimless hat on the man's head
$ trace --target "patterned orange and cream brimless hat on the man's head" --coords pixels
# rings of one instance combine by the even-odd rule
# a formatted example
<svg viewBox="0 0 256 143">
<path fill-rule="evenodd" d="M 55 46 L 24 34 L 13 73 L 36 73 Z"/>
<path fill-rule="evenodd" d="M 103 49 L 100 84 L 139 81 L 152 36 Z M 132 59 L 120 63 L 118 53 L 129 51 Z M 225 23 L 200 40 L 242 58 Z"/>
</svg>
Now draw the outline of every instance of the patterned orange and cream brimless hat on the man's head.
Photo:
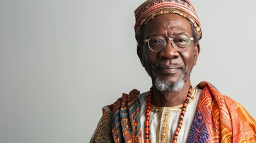
<svg viewBox="0 0 256 143">
<path fill-rule="evenodd" d="M 190 0 L 147 0 L 135 11 L 135 35 L 144 24 L 161 14 L 178 14 L 193 24 L 198 39 L 202 38 L 201 23 Z"/>
</svg>

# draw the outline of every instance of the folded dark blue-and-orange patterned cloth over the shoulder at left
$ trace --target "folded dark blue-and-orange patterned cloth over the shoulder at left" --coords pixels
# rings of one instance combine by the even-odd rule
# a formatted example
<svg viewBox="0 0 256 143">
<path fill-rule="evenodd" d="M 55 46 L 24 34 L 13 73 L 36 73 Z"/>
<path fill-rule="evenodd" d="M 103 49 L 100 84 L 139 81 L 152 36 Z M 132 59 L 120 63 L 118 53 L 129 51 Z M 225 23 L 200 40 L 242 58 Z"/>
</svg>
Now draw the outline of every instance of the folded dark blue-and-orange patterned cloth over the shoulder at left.
<svg viewBox="0 0 256 143">
<path fill-rule="evenodd" d="M 123 94 L 113 104 L 112 133 L 114 142 L 142 142 L 140 129 L 140 92 Z"/>
</svg>

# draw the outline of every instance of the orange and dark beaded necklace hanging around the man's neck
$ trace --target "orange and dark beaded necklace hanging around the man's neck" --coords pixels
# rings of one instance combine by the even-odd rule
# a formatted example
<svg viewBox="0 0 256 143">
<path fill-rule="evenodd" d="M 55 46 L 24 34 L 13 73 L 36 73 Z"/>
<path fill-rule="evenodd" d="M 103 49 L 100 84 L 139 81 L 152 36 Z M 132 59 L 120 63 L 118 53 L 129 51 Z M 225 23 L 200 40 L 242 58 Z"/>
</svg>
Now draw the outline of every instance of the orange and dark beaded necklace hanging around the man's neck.
<svg viewBox="0 0 256 143">
<path fill-rule="evenodd" d="M 185 115 L 187 105 L 189 104 L 191 95 L 192 95 L 192 84 L 190 83 L 189 92 L 187 92 L 187 98 L 183 103 L 183 107 L 182 107 L 182 110 L 181 110 L 181 113 L 180 113 L 180 119 L 178 119 L 178 126 L 177 126 L 177 128 L 174 132 L 172 143 L 177 142 L 178 133 L 180 132 L 180 129 L 181 129 L 181 126 L 182 126 L 182 123 L 183 123 L 183 117 Z M 151 103 L 152 103 L 152 88 L 150 88 L 150 90 L 149 90 L 149 95 L 148 95 L 148 98 L 147 98 L 147 108 L 146 108 L 146 113 L 145 113 L 145 116 L 146 116 L 145 136 L 144 136 L 145 137 L 145 141 L 144 141 L 145 143 L 150 143 L 150 140 L 149 140 L 149 134 L 150 134 L 150 132 L 149 132 L 149 120 L 150 120 L 149 112 L 150 112 L 150 108 L 151 108 Z"/>
</svg>

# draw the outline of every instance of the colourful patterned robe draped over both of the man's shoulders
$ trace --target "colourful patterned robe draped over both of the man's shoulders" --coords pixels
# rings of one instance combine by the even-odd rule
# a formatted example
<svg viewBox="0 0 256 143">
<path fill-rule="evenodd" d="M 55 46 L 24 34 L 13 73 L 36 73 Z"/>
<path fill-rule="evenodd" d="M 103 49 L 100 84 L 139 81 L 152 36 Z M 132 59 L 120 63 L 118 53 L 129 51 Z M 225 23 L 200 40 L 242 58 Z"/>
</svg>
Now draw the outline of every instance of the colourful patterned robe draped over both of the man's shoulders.
<svg viewBox="0 0 256 143">
<path fill-rule="evenodd" d="M 202 89 L 187 142 L 256 142 L 256 121 L 241 104 L 221 94 L 208 82 Z M 123 94 L 103 107 L 103 116 L 90 142 L 143 142 L 140 92 Z"/>
</svg>

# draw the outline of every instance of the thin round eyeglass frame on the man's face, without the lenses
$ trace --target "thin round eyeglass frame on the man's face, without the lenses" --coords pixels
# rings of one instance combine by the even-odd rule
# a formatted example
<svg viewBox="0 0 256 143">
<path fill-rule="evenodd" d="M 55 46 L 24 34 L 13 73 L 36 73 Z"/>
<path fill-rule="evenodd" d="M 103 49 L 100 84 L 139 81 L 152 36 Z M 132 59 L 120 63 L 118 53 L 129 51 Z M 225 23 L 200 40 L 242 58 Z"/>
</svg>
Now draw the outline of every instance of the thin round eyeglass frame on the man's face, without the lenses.
<svg viewBox="0 0 256 143">
<path fill-rule="evenodd" d="M 177 35 L 177 36 L 175 36 L 174 38 L 171 38 L 171 37 L 169 37 L 169 36 L 166 37 L 166 38 L 164 38 L 163 36 L 160 36 L 160 35 L 156 35 L 156 36 L 162 37 L 162 38 L 165 40 L 165 45 L 163 46 L 163 48 L 162 48 L 160 51 L 162 51 L 162 50 L 166 47 L 166 45 L 167 45 L 166 40 L 172 41 L 172 42 L 171 42 L 172 47 L 173 47 L 176 51 L 179 51 L 179 52 L 185 51 L 187 48 L 189 48 L 189 46 L 190 46 L 190 44 L 191 44 L 191 42 L 190 42 L 189 45 L 188 45 L 186 48 L 184 48 L 184 50 L 180 51 L 180 50 L 177 50 L 177 49 L 175 48 L 175 46 L 177 46 L 177 45 L 175 44 L 175 42 L 173 42 L 173 40 L 174 40 L 177 36 L 180 36 L 180 35 Z M 149 45 L 150 39 L 153 38 L 153 37 L 156 37 L 156 36 L 152 36 L 152 37 L 150 37 L 149 39 L 144 39 L 143 42 L 144 42 L 144 43 L 147 42 L 147 46 L 149 46 L 149 49 L 150 49 L 151 51 L 153 51 L 153 52 L 160 52 L 160 51 L 155 51 L 155 50 L 153 50 L 152 48 L 150 48 L 150 45 Z M 187 35 L 184 35 L 184 36 L 187 36 Z M 190 38 L 189 36 L 187 36 L 187 38 L 189 38 L 190 41 L 194 40 L 194 38 Z M 175 46 L 173 45 L 173 43 L 174 43 Z"/>
</svg>

